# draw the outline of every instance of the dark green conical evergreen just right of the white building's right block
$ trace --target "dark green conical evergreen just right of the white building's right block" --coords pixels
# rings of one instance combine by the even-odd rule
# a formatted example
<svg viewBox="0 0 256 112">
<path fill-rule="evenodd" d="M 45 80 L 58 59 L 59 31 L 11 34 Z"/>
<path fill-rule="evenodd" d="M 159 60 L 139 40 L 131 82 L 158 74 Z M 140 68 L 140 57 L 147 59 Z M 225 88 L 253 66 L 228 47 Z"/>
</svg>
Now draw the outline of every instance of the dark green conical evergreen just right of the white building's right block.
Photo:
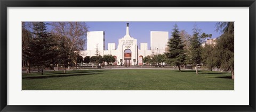
<svg viewBox="0 0 256 112">
<path fill-rule="evenodd" d="M 185 62 L 185 44 L 183 44 L 183 41 L 180 38 L 180 32 L 177 24 L 174 25 L 172 38 L 167 42 L 167 47 L 169 49 L 165 55 L 168 59 L 168 62 L 171 65 L 178 66 L 179 71 L 181 72 L 180 65 Z"/>
</svg>

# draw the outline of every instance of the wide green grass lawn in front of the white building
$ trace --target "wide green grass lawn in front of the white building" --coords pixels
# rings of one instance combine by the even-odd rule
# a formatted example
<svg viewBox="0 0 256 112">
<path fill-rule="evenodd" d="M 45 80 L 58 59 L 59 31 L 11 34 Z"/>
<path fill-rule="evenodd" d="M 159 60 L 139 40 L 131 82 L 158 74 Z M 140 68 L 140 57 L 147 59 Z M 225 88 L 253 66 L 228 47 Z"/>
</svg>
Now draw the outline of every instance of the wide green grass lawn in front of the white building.
<svg viewBox="0 0 256 112">
<path fill-rule="evenodd" d="M 234 90 L 230 73 L 80 70 L 22 74 L 22 90 Z"/>
</svg>

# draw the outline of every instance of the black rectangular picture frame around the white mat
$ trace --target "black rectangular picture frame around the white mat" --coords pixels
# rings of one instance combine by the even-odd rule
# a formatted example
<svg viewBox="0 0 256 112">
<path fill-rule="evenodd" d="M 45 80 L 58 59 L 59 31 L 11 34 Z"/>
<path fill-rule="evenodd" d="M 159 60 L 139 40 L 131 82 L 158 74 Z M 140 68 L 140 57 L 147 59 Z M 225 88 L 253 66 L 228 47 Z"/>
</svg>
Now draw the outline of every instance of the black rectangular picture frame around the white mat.
<svg viewBox="0 0 256 112">
<path fill-rule="evenodd" d="M 0 0 L 1 111 L 255 111 L 255 0 Z M 7 104 L 7 7 L 250 7 L 249 106 L 10 106 Z"/>
</svg>

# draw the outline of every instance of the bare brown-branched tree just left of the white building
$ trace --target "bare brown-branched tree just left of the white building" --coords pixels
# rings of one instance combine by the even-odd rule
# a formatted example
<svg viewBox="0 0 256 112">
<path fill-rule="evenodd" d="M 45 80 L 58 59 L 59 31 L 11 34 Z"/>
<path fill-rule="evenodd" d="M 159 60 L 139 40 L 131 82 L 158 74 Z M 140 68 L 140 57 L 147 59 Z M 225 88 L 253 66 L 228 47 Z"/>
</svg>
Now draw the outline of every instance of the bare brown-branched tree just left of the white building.
<svg viewBox="0 0 256 112">
<path fill-rule="evenodd" d="M 64 38 L 69 48 L 69 59 L 76 62 L 76 58 L 71 56 L 74 51 L 83 50 L 85 37 L 87 33 L 87 25 L 85 22 L 52 22 L 52 33 Z"/>
</svg>

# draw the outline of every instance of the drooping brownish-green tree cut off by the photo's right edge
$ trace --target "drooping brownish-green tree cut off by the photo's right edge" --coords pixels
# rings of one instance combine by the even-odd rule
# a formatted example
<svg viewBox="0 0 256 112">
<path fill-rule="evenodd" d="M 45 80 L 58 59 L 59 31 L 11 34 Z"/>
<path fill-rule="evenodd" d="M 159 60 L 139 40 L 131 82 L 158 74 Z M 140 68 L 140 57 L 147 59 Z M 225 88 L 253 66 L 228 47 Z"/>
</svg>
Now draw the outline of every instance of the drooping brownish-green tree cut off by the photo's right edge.
<svg viewBox="0 0 256 112">
<path fill-rule="evenodd" d="M 222 35 L 217 40 L 219 67 L 223 71 L 231 71 L 232 79 L 234 74 L 234 22 L 218 22 L 217 31 Z"/>
</svg>

